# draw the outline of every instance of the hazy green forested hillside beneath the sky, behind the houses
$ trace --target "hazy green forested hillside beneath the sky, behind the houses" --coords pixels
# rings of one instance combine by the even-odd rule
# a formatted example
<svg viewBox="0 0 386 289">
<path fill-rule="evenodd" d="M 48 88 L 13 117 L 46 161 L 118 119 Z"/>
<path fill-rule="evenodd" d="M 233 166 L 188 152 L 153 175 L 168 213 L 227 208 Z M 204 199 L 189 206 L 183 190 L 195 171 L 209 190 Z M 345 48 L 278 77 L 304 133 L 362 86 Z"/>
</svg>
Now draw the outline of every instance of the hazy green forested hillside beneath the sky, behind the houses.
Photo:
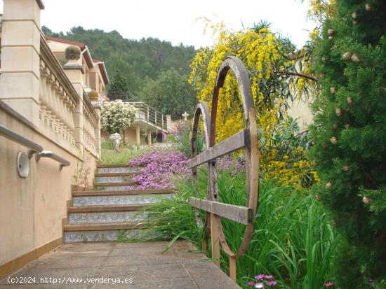
<svg viewBox="0 0 386 289">
<path fill-rule="evenodd" d="M 118 31 L 73 27 L 68 32 L 53 32 L 41 27 L 47 36 L 65 38 L 86 43 L 95 58 L 103 59 L 110 79 L 121 71 L 131 94 L 138 95 L 144 80 L 156 80 L 162 71 L 175 69 L 181 75 L 189 73 L 189 63 L 196 50 L 182 43 L 173 46 L 157 38 L 127 39 Z M 108 87 L 109 88 L 109 87 Z"/>
</svg>

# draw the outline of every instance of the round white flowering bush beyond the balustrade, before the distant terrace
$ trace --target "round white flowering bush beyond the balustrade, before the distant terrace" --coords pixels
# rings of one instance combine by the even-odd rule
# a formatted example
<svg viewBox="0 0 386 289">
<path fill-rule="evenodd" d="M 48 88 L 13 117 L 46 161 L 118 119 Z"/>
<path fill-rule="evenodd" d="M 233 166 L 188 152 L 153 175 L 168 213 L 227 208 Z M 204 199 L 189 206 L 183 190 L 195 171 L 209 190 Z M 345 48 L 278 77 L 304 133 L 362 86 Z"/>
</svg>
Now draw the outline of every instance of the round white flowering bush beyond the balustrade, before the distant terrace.
<svg viewBox="0 0 386 289">
<path fill-rule="evenodd" d="M 120 134 L 133 123 L 136 112 L 137 108 L 121 100 L 104 101 L 100 114 L 102 129 L 109 134 Z"/>
</svg>

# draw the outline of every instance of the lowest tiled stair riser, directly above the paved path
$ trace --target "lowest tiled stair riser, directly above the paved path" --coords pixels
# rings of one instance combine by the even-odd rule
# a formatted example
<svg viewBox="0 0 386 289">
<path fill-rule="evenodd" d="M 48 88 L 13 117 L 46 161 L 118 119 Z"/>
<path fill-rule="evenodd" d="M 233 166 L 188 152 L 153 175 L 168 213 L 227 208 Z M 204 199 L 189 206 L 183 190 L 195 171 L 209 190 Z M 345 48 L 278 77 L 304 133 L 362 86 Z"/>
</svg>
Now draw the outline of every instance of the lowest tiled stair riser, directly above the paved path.
<svg viewBox="0 0 386 289">
<path fill-rule="evenodd" d="M 65 242 L 117 241 L 117 235 L 119 234 L 125 234 L 126 237 L 135 237 L 139 233 L 140 230 L 65 232 Z"/>
</svg>

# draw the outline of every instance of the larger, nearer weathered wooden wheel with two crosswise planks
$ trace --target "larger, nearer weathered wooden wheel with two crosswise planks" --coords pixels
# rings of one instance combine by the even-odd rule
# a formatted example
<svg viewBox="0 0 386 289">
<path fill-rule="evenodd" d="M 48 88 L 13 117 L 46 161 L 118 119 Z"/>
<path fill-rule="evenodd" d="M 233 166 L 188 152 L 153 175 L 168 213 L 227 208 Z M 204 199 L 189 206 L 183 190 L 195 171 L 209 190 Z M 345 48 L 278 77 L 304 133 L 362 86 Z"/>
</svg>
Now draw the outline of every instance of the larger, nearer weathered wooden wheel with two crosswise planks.
<svg viewBox="0 0 386 289">
<path fill-rule="evenodd" d="M 225 141 L 215 143 L 215 122 L 217 117 L 218 95 L 220 88 L 223 87 L 227 73 L 231 69 L 237 79 L 241 98 L 243 101 L 244 118 L 246 120 L 246 129 L 230 136 Z M 197 120 L 198 121 L 198 120 Z M 205 125 L 205 124 L 204 124 Z M 209 148 L 200 155 L 197 155 L 189 161 L 189 168 L 194 169 L 200 164 L 208 162 L 208 200 L 189 198 L 189 204 L 211 213 L 211 239 L 212 239 L 212 257 L 220 258 L 220 250 L 215 244 L 220 240 L 225 253 L 229 255 L 229 275 L 236 280 L 236 258 L 243 255 L 251 242 L 253 234 L 253 225 L 255 223 L 255 214 L 258 208 L 258 178 L 259 178 L 259 160 L 258 160 L 258 129 L 255 118 L 255 108 L 251 83 L 248 78 L 246 67 L 240 59 L 234 56 L 226 57 L 215 81 L 213 90 L 211 125 L 208 127 Z M 217 177 L 215 170 L 215 160 L 218 157 L 227 155 L 244 148 L 246 158 L 246 182 L 247 182 L 247 204 L 246 206 L 235 206 L 218 202 Z M 193 171 L 194 172 L 194 171 Z M 241 246 L 234 253 L 228 246 L 222 230 L 220 217 L 234 220 L 246 225 L 244 239 Z M 214 235 L 214 236 L 213 236 Z"/>
</svg>

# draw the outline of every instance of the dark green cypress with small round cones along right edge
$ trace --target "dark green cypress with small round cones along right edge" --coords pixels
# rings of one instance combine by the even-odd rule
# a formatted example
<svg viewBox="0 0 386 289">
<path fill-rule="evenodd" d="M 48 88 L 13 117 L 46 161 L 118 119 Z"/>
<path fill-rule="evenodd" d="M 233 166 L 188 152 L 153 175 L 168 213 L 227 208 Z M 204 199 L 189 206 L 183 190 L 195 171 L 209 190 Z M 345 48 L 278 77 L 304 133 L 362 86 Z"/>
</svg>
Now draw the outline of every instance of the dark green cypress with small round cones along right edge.
<svg viewBox="0 0 386 289">
<path fill-rule="evenodd" d="M 316 41 L 317 193 L 342 236 L 341 288 L 386 276 L 386 1 L 337 0 Z"/>
</svg>

